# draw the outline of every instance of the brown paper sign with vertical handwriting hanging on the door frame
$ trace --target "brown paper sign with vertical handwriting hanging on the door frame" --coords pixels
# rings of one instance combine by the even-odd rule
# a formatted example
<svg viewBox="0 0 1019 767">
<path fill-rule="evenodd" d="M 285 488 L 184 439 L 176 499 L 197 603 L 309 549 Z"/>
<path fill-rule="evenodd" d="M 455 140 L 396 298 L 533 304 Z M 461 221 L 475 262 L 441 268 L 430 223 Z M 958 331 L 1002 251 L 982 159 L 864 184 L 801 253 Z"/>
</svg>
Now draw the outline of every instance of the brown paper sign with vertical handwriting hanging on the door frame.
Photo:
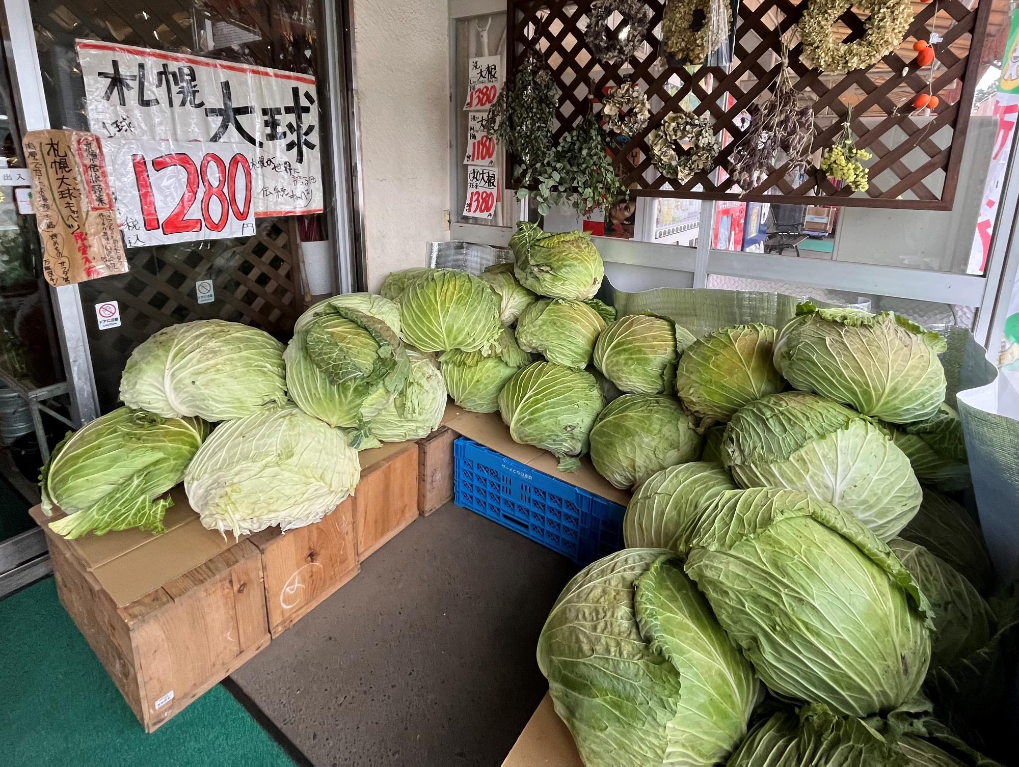
<svg viewBox="0 0 1019 767">
<path fill-rule="evenodd" d="M 32 130 L 21 144 L 46 281 L 59 287 L 126 272 L 99 136 Z"/>
</svg>

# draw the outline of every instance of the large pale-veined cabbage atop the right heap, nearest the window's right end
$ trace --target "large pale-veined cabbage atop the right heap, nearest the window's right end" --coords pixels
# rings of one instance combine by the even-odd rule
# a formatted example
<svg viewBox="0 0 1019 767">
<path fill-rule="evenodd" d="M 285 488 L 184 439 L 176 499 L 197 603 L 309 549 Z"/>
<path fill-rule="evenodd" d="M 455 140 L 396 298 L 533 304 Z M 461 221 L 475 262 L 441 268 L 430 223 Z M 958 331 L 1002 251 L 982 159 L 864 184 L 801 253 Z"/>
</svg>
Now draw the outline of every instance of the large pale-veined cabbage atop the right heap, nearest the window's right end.
<svg viewBox="0 0 1019 767">
<path fill-rule="evenodd" d="M 774 365 L 795 388 L 848 404 L 864 416 L 908 424 L 945 401 L 948 345 L 894 312 L 817 309 L 804 303 L 782 329 Z"/>
</svg>

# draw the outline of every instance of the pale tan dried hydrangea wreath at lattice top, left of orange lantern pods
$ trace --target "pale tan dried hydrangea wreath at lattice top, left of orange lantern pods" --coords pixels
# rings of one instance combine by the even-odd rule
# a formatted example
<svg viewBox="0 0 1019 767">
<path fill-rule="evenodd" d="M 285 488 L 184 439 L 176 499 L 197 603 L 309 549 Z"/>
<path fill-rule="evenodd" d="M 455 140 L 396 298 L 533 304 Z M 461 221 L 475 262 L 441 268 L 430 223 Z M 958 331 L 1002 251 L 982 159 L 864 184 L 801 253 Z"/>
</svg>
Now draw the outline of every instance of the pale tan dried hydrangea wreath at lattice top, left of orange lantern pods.
<svg viewBox="0 0 1019 767">
<path fill-rule="evenodd" d="M 869 11 L 867 32 L 852 43 L 836 41 L 832 26 L 853 5 Z M 902 42 L 912 21 L 910 0 L 810 0 L 800 19 L 802 57 L 825 72 L 865 69 Z"/>
</svg>

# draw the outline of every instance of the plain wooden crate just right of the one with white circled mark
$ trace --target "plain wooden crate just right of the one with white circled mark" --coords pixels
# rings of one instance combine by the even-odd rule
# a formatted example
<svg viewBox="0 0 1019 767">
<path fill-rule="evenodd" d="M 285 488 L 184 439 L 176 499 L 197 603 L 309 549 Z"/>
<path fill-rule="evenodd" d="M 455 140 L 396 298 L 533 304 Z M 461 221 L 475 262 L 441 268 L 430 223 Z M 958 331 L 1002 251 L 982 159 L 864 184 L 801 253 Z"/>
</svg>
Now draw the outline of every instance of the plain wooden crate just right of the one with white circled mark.
<svg viewBox="0 0 1019 767">
<path fill-rule="evenodd" d="M 354 497 L 354 534 L 363 562 L 418 516 L 418 444 L 363 450 Z"/>
</svg>

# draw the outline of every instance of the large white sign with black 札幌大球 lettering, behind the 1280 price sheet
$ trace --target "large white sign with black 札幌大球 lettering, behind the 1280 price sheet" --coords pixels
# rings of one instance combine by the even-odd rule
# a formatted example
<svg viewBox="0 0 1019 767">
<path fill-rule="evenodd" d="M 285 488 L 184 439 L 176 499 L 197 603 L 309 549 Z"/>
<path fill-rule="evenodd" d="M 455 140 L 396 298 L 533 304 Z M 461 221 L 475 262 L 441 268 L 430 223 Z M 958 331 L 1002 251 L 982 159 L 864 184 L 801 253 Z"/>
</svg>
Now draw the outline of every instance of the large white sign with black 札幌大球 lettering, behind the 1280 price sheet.
<svg viewBox="0 0 1019 767">
<path fill-rule="evenodd" d="M 257 218 L 322 212 L 314 76 L 93 40 L 74 45 L 89 125 L 104 140 L 242 144 Z"/>
</svg>

